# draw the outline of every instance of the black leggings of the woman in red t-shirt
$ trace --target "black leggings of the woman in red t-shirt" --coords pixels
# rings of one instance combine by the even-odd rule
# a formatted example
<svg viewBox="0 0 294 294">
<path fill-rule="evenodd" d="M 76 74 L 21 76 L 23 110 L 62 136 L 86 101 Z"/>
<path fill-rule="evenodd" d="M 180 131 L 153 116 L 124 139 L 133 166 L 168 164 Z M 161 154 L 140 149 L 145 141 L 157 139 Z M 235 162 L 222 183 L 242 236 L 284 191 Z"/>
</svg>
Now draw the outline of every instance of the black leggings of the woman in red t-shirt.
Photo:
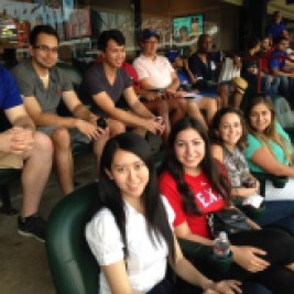
<svg viewBox="0 0 294 294">
<path fill-rule="evenodd" d="M 285 265 L 294 263 L 294 238 L 280 229 L 264 228 L 262 230 L 243 231 L 231 235 L 230 241 L 235 246 L 257 247 L 268 252 L 264 260 L 271 263 L 269 269 L 251 273 L 232 263 L 229 271 L 218 279 L 237 279 L 240 281 L 255 281 L 273 293 L 294 293 L 294 272 Z"/>
</svg>

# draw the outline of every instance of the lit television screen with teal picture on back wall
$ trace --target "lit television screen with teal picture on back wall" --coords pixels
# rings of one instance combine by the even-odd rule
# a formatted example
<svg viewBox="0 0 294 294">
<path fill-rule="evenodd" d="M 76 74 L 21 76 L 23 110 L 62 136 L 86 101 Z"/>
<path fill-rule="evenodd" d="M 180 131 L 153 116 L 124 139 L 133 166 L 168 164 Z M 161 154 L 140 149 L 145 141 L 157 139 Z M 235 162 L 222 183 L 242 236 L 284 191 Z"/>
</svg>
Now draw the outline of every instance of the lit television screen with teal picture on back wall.
<svg viewBox="0 0 294 294">
<path fill-rule="evenodd" d="M 190 14 L 173 18 L 174 39 L 181 41 L 183 35 L 197 37 L 204 32 L 204 15 Z"/>
</svg>

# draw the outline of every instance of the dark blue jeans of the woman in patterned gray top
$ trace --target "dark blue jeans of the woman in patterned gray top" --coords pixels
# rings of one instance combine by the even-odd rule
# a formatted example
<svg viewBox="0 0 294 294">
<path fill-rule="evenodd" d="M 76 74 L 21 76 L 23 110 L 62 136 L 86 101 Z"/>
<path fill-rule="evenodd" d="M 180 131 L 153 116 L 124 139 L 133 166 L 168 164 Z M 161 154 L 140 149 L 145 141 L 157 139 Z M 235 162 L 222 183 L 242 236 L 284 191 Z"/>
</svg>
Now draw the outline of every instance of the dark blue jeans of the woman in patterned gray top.
<svg viewBox="0 0 294 294">
<path fill-rule="evenodd" d="M 257 219 L 260 226 L 279 226 L 287 229 L 294 236 L 294 202 L 293 200 L 265 200 L 265 210 Z"/>
</svg>

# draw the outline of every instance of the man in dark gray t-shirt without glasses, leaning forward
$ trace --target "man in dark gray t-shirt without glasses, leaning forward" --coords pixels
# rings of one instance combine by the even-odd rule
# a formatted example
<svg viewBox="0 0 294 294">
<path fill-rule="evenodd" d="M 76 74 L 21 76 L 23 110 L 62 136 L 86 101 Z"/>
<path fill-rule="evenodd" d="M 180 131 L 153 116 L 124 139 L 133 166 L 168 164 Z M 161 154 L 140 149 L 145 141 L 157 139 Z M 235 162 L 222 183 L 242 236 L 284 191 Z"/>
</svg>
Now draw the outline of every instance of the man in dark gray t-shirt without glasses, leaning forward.
<svg viewBox="0 0 294 294">
<path fill-rule="evenodd" d="M 145 131 L 162 133 L 164 124 L 156 121 L 138 99 L 132 81 L 124 69 L 126 39 L 119 30 L 104 31 L 98 41 L 101 63 L 94 65 L 85 75 L 84 90 L 95 105 L 96 113 L 108 117 L 110 135 L 126 131 L 126 127 L 144 134 Z M 122 98 L 123 97 L 123 98 Z M 124 99 L 128 110 L 118 106 Z"/>
</svg>

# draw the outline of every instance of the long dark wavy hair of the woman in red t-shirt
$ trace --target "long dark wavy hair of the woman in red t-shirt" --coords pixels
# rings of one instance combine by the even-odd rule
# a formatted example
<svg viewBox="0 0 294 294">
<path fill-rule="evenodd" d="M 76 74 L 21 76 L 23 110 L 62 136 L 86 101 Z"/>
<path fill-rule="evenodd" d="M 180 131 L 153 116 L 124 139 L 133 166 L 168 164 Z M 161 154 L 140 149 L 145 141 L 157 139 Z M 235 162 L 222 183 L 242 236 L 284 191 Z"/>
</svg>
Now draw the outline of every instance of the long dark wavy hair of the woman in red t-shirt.
<svg viewBox="0 0 294 294">
<path fill-rule="evenodd" d="M 176 157 L 174 148 L 177 134 L 186 129 L 194 129 L 204 140 L 205 156 L 200 163 L 202 171 L 207 176 L 211 186 L 220 194 L 220 196 L 226 200 L 227 204 L 229 204 L 230 184 L 228 178 L 221 175 L 219 166 L 211 155 L 210 143 L 203 124 L 197 120 L 187 117 L 178 120 L 174 124 L 168 138 L 166 159 L 165 163 L 163 164 L 163 170 L 167 171 L 174 177 L 177 189 L 182 196 L 184 211 L 186 211 L 187 214 L 200 215 L 202 211 L 195 203 L 194 193 L 185 182 L 184 168 Z"/>
</svg>

